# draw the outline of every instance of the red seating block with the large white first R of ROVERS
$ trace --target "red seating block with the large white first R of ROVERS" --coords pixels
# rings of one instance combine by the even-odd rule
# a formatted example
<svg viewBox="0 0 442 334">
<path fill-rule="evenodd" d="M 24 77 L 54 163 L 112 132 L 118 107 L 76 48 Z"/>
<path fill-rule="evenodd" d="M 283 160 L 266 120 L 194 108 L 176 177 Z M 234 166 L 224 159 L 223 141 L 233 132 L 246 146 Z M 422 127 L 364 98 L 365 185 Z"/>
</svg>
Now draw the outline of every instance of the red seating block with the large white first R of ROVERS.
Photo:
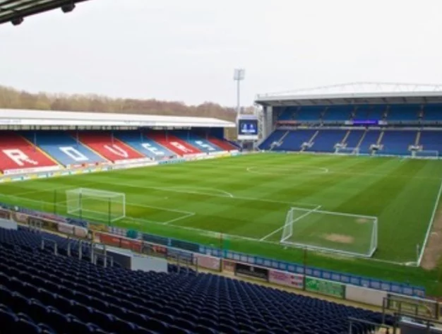
<svg viewBox="0 0 442 334">
<path fill-rule="evenodd" d="M 58 164 L 40 148 L 16 132 L 0 131 L 0 171 L 39 167 L 57 167 Z"/>
</svg>

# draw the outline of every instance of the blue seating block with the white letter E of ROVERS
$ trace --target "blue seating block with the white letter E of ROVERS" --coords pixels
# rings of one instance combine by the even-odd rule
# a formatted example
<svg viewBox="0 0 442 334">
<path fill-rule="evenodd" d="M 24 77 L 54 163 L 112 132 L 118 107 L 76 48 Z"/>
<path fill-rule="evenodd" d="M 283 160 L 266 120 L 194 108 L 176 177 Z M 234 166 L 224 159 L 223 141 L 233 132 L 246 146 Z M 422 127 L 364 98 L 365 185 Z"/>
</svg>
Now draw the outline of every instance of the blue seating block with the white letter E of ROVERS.
<svg viewBox="0 0 442 334">
<path fill-rule="evenodd" d="M 177 153 L 168 150 L 138 131 L 118 131 L 114 133 L 114 136 L 127 145 L 130 145 L 134 150 L 155 160 L 177 156 Z"/>
</svg>

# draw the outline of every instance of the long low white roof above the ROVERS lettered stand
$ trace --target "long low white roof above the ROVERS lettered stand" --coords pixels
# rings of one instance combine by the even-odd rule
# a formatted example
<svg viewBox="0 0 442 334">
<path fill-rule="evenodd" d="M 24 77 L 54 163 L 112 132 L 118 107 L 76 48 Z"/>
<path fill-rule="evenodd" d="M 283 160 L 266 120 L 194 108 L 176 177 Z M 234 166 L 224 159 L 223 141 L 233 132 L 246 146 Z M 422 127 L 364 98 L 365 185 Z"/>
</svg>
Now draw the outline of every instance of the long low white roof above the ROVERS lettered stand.
<svg viewBox="0 0 442 334">
<path fill-rule="evenodd" d="M 16 126 L 179 126 L 234 128 L 236 124 L 205 117 L 178 117 L 99 112 L 55 112 L 0 109 L 0 125 Z"/>
</svg>

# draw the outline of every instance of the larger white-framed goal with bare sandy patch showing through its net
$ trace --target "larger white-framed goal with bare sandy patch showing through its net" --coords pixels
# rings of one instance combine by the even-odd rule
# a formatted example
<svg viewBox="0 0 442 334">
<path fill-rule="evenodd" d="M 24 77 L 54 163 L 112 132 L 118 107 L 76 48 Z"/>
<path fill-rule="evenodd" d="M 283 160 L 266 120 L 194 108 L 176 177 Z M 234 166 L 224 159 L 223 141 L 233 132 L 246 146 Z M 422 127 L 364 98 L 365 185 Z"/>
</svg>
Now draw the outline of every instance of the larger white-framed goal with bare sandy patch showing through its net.
<svg viewBox="0 0 442 334">
<path fill-rule="evenodd" d="M 378 218 L 291 208 L 280 243 L 318 251 L 371 257 L 378 246 Z"/>
</svg>

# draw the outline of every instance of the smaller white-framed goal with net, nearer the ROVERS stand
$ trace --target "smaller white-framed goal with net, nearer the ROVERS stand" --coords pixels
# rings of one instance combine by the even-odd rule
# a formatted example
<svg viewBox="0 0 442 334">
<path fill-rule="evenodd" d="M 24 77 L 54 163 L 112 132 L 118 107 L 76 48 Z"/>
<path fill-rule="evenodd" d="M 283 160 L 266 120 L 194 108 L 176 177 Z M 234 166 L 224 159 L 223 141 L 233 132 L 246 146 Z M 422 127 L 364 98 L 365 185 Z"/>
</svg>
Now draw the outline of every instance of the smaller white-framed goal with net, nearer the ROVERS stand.
<svg viewBox="0 0 442 334">
<path fill-rule="evenodd" d="M 115 222 L 126 217 L 126 194 L 98 189 L 66 191 L 68 215 L 100 222 Z"/>
</svg>

